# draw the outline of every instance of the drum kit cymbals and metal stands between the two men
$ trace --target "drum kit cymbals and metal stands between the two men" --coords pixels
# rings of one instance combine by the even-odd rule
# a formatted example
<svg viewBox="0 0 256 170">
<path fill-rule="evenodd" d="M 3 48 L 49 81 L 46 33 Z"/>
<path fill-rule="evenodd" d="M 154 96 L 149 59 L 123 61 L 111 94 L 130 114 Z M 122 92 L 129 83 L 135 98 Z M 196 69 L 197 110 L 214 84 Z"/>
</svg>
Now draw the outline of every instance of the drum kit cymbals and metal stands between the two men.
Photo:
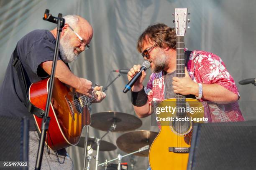
<svg viewBox="0 0 256 170">
<path fill-rule="evenodd" d="M 91 118 L 91 126 L 97 130 L 106 131 L 106 133 L 101 138 L 80 138 L 77 146 L 82 148 L 87 146 L 85 152 L 86 158 L 84 158 L 84 160 L 87 160 L 87 165 L 86 167 L 84 165 L 84 169 L 90 170 L 93 150 L 97 150 L 95 170 L 98 170 L 99 166 L 104 166 L 105 170 L 125 170 L 128 165 L 121 163 L 122 158 L 128 155 L 148 157 L 149 148 L 158 133 L 148 130 L 136 130 L 142 125 L 142 121 L 138 117 L 122 112 L 107 111 L 92 114 Z M 104 163 L 99 164 L 99 151 L 112 151 L 117 149 L 114 144 L 102 140 L 105 135 L 111 132 L 126 132 L 118 137 L 116 144 L 120 150 L 128 154 L 118 154 L 117 158 L 106 160 Z M 114 160 L 118 160 L 118 165 L 109 164 Z M 84 164 L 85 162 L 86 161 L 84 161 Z"/>
</svg>

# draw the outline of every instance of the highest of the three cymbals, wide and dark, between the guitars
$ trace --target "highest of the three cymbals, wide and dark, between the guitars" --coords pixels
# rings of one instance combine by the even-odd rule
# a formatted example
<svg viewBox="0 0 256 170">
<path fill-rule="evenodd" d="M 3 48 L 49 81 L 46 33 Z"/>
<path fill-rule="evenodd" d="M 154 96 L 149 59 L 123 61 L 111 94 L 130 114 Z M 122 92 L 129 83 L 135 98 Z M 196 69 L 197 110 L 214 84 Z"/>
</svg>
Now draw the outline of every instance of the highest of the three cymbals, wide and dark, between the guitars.
<svg viewBox="0 0 256 170">
<path fill-rule="evenodd" d="M 122 112 L 99 112 L 92 114 L 91 117 L 91 126 L 103 131 L 108 131 L 113 122 L 116 123 L 116 128 L 112 132 L 136 130 L 142 125 L 142 121 L 138 117 Z"/>
</svg>

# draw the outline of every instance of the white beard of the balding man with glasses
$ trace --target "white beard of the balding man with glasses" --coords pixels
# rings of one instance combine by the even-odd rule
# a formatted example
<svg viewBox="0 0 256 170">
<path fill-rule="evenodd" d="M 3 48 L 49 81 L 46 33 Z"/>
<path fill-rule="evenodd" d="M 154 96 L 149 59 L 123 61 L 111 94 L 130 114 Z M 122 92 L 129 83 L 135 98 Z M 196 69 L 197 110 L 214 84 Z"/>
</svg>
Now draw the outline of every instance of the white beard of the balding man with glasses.
<svg viewBox="0 0 256 170">
<path fill-rule="evenodd" d="M 72 45 L 70 45 L 69 43 L 69 40 L 69 35 L 64 35 L 59 41 L 59 50 L 61 58 L 66 63 L 70 63 L 74 60 L 77 60 L 77 57 L 79 55 L 79 51 L 77 51 L 77 54 L 74 53 L 74 49 L 77 49 L 77 47 L 72 47 Z"/>
</svg>

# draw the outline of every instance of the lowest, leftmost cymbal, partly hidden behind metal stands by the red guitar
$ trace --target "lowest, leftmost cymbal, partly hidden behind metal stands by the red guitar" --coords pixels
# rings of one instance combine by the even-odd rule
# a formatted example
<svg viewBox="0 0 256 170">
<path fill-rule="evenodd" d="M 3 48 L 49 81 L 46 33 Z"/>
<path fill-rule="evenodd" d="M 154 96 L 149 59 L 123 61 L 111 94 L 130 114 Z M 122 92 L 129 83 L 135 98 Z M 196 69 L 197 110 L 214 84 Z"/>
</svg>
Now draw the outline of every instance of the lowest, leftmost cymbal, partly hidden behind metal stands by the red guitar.
<svg viewBox="0 0 256 170">
<path fill-rule="evenodd" d="M 84 140 L 85 137 L 81 137 L 79 140 L 79 143 L 76 146 L 84 148 Z M 97 144 L 95 144 L 95 138 L 88 138 L 87 145 L 92 145 L 93 150 L 97 150 Z M 110 142 L 107 142 L 105 140 L 100 141 L 100 151 L 111 151 L 116 150 L 116 146 Z"/>
</svg>

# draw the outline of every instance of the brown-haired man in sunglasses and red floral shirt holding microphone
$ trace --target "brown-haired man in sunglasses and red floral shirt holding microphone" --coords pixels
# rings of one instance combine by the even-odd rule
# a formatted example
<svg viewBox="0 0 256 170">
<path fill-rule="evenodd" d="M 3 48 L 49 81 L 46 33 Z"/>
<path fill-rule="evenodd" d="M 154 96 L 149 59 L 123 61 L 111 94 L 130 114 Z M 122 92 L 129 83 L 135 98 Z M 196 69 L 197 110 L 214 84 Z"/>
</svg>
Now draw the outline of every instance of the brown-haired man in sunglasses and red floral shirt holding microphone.
<svg viewBox="0 0 256 170">
<path fill-rule="evenodd" d="M 242 121 L 238 106 L 239 93 L 233 77 L 218 57 L 206 51 L 194 50 L 185 68 L 185 77 L 176 77 L 176 33 L 164 24 L 149 26 L 139 37 L 138 51 L 151 62 L 150 80 L 143 86 L 146 72 L 131 87 L 133 108 L 138 117 L 146 117 L 154 111 L 154 103 L 176 98 L 176 93 L 194 95 L 204 102 L 208 122 Z M 134 65 L 128 72 L 128 80 L 140 70 Z M 201 90 L 200 90 L 201 89 Z"/>
</svg>

